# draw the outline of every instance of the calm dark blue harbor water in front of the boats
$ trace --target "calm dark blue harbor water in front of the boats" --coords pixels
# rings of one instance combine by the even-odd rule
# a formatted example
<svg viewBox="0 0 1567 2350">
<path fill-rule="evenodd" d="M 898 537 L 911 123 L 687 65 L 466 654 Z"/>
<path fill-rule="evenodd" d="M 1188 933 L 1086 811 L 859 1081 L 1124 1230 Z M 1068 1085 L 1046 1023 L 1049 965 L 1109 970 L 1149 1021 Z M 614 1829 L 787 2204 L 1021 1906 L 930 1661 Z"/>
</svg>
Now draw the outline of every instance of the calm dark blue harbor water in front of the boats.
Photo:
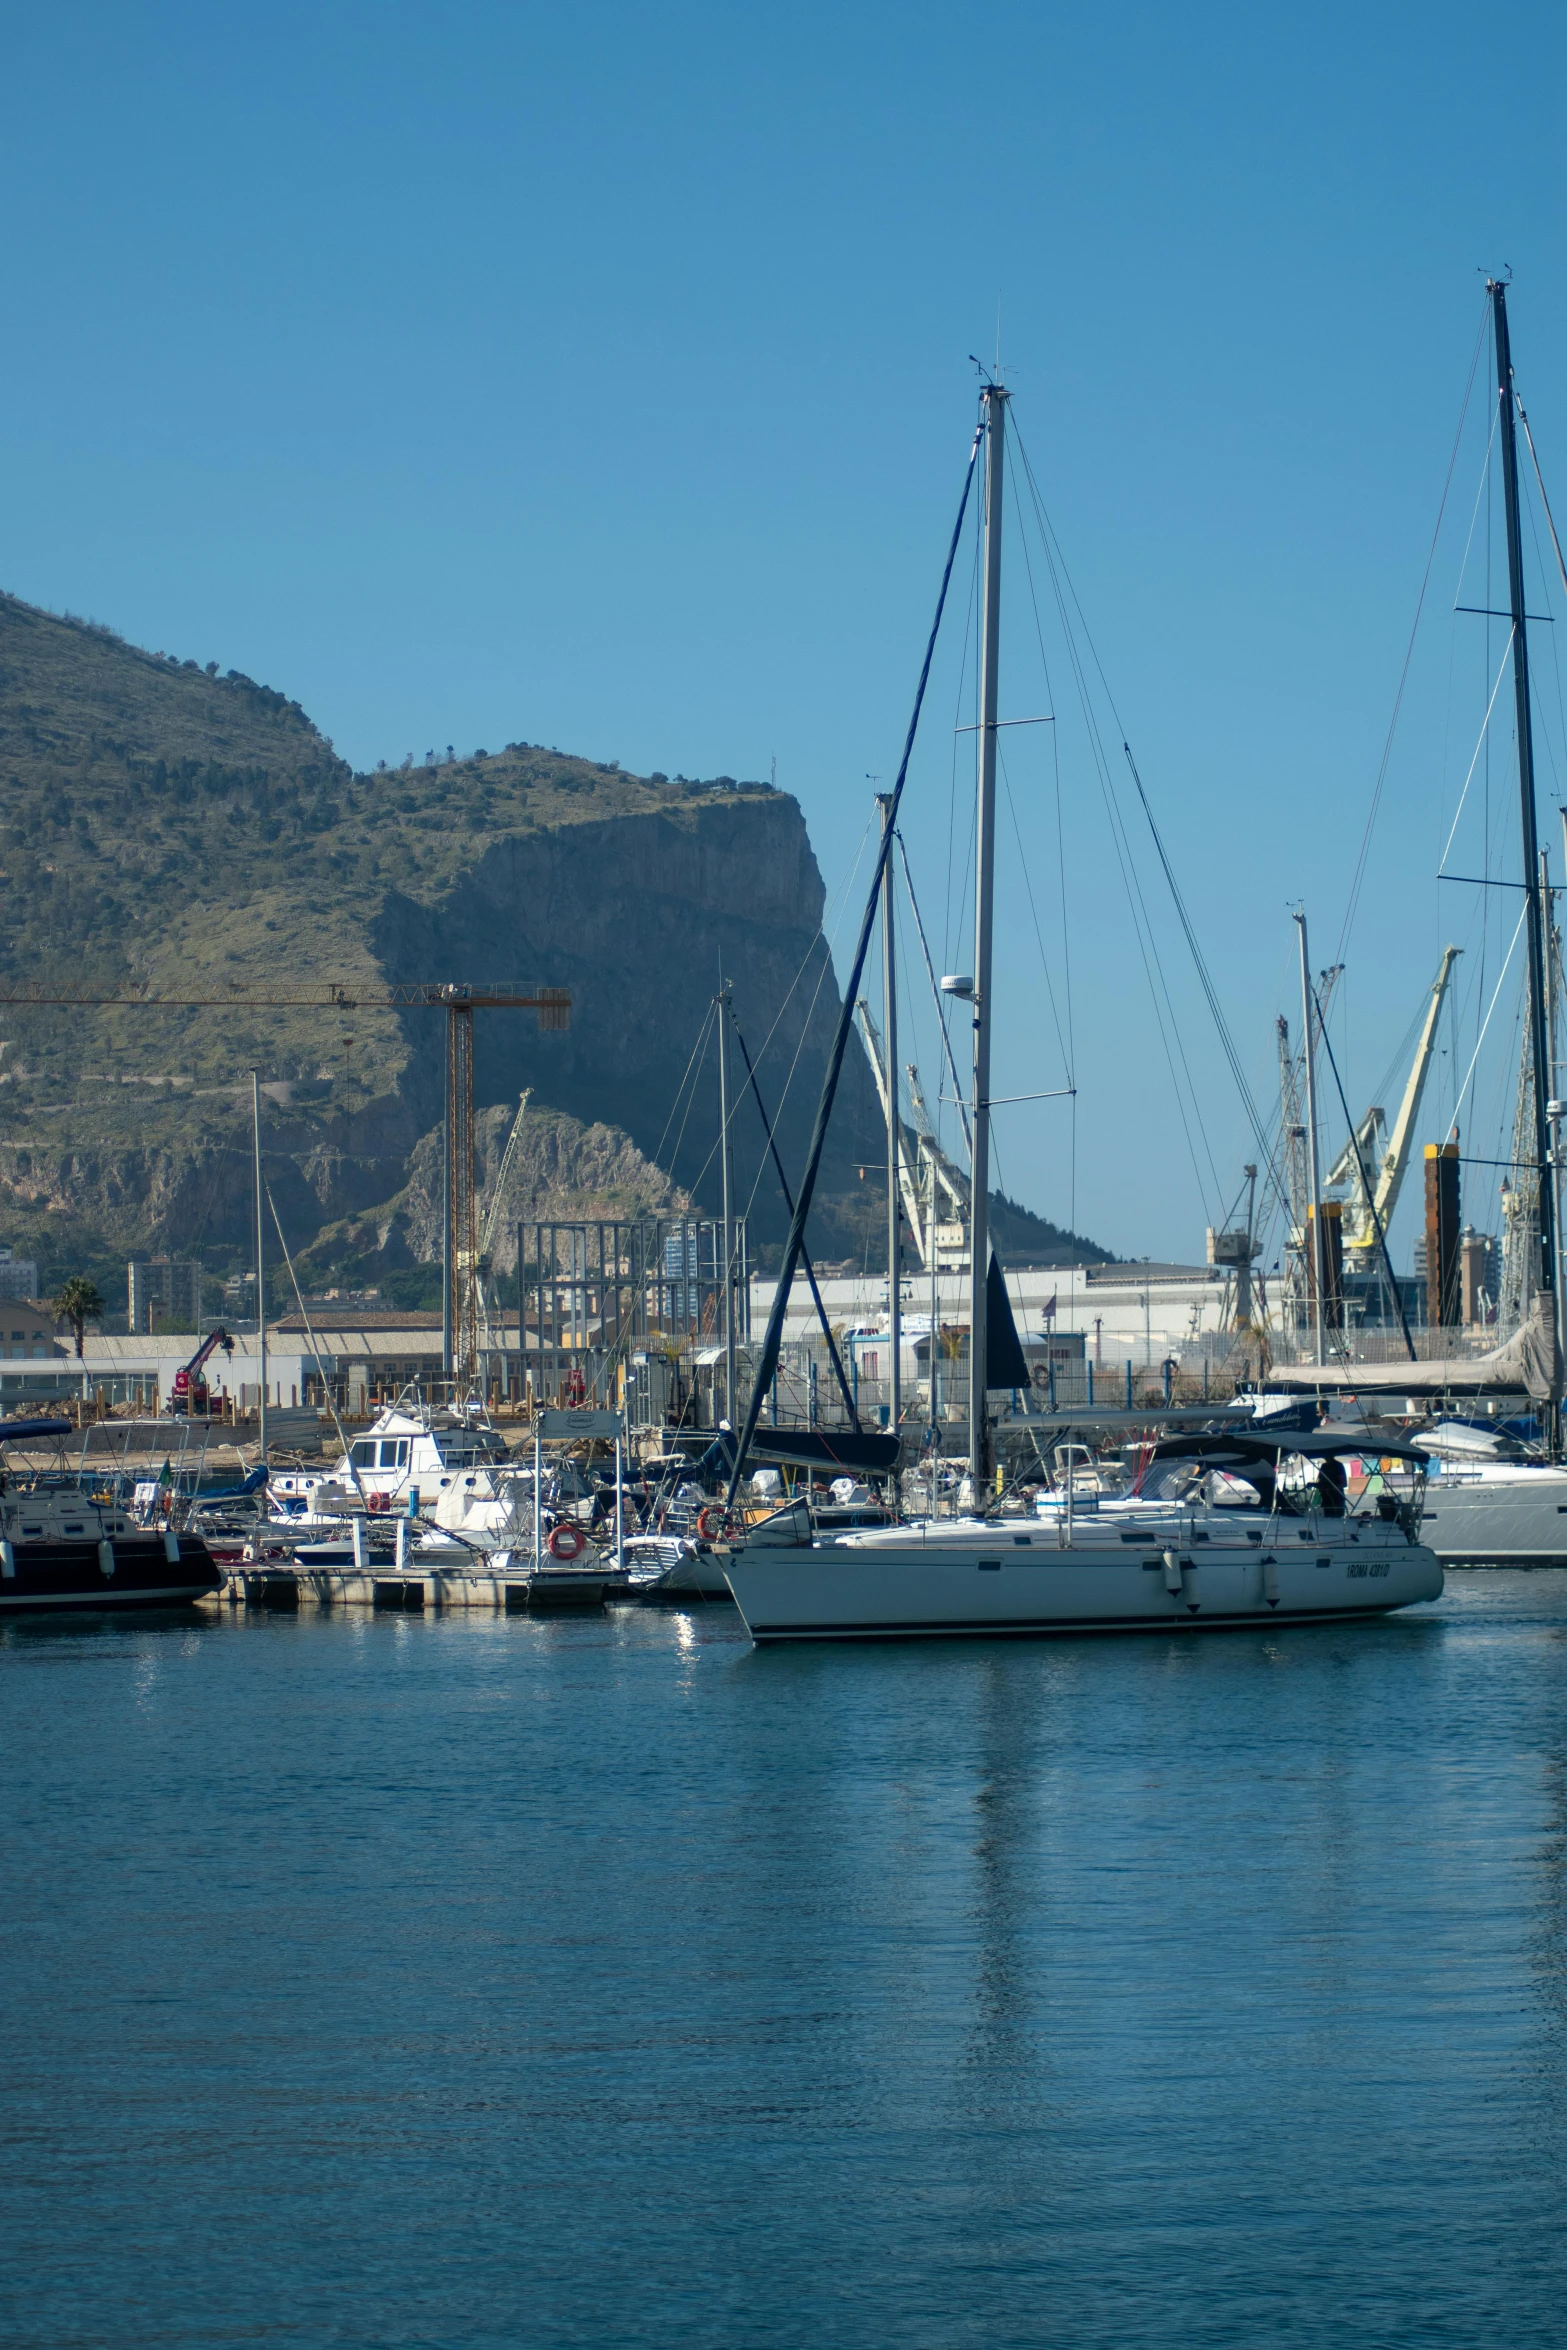
<svg viewBox="0 0 1567 2350">
<path fill-rule="evenodd" d="M 1560 2345 L 1567 1574 L 0 1638 L 0 2338 Z"/>
</svg>

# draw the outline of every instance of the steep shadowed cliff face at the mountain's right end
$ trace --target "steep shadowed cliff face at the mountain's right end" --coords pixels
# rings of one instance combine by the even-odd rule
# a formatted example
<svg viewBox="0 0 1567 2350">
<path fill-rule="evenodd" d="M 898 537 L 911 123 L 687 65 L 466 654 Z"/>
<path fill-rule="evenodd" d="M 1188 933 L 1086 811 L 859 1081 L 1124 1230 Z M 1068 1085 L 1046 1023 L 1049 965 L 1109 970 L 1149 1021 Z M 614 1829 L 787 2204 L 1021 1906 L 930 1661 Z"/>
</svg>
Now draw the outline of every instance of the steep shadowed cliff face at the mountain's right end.
<svg viewBox="0 0 1567 2350">
<path fill-rule="evenodd" d="M 712 999 L 728 980 L 768 1114 L 778 1119 L 785 1166 L 799 1168 L 839 1015 L 820 919 L 822 879 L 799 806 L 775 792 L 726 792 L 684 808 L 529 827 L 486 841 L 439 893 L 423 902 L 388 898 L 371 935 L 395 978 L 463 973 L 569 987 L 566 1034 L 538 1034 L 526 1015 L 477 1015 L 479 1097 L 515 1100 L 522 1086 L 533 1086 L 578 1119 L 623 1126 L 641 1152 L 712 1203 L 719 1191 Z M 705 1048 L 686 1074 L 702 1032 Z M 439 1020 L 411 1013 L 404 1036 L 404 1090 L 416 1116 L 432 1123 Z M 733 1079 L 738 1093 L 745 1079 L 738 1053 Z M 829 1194 L 853 1184 L 850 1159 L 876 1147 L 858 1048 L 843 1072 L 843 1112 L 825 1177 Z M 754 1102 L 735 1114 L 733 1142 L 749 1198 L 764 1156 Z M 759 1187 L 754 1213 L 764 1229 L 782 1229 L 773 1180 Z"/>
</svg>

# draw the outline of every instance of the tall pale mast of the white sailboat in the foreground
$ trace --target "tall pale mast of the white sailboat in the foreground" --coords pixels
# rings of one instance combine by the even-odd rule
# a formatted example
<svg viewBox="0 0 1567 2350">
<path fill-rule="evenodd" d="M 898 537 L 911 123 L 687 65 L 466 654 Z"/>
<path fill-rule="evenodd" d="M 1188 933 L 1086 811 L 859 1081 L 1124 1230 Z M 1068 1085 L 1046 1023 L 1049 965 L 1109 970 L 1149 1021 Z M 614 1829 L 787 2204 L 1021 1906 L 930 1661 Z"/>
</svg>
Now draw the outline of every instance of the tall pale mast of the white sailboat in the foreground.
<svg viewBox="0 0 1567 2350">
<path fill-rule="evenodd" d="M 975 1502 L 989 1466 L 984 1441 L 984 1372 L 989 1361 L 989 1093 L 991 1093 L 991 916 L 996 898 L 996 717 L 1001 689 L 1001 461 L 1006 402 L 998 383 L 984 385 L 984 613 L 980 620 L 980 811 L 975 830 L 975 1083 L 973 1156 L 968 1184 L 968 1476 Z"/>
</svg>

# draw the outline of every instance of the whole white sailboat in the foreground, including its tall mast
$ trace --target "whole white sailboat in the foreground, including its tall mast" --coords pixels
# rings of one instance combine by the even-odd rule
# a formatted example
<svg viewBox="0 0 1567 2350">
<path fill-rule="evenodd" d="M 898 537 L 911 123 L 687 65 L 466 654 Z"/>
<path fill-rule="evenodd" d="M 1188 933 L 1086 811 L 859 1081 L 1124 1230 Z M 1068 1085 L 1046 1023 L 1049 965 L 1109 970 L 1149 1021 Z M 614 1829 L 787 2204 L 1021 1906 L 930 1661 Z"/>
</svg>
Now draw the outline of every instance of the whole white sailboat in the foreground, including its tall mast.
<svg viewBox="0 0 1567 2350">
<path fill-rule="evenodd" d="M 973 1003 L 968 1412 L 973 1492 L 984 1490 L 989 1466 L 987 1189 L 1006 402 L 1008 392 L 998 383 L 987 383 L 975 971 L 961 989 Z M 926 656 L 926 674 L 928 667 Z M 853 985 L 848 994 L 853 996 Z M 818 1112 L 818 1135 L 829 1107 L 827 1093 Z M 808 1168 L 801 1184 L 806 1203 L 811 1184 Z M 792 1243 L 801 1229 L 803 1215 L 796 1215 Z M 785 1257 L 780 1295 L 789 1271 Z M 778 1302 L 773 1318 L 780 1321 Z M 773 1330 L 768 1344 L 771 1337 Z M 752 1426 L 754 1405 L 747 1438 Z M 1341 1450 L 1356 1448 L 1309 1436 L 1168 1438 L 1156 1448 L 1161 1459 L 1156 1495 L 1144 1488 L 1142 1495 L 1102 1502 L 1083 1516 L 1067 1506 L 1057 1511 L 1055 1523 L 1008 1516 L 935 1518 L 923 1525 L 813 1539 L 808 1513 L 785 1509 L 724 1551 L 724 1570 L 745 1626 L 759 1645 L 1323 1622 L 1386 1614 L 1391 1607 L 1438 1598 L 1442 1570 L 1417 1539 L 1424 1455 L 1403 1445 L 1386 1448 L 1414 1471 L 1412 1504 L 1351 1513 L 1344 1499 L 1344 1471 L 1330 1466 Z M 1287 1471 L 1280 1473 L 1280 1459 L 1290 1457 L 1302 1462 L 1294 1480 Z M 735 1478 L 742 1464 L 745 1443 Z M 1320 1464 L 1316 1483 L 1304 1483 L 1311 1464 Z M 1219 1490 L 1224 1504 L 1217 1502 Z M 1250 1506 L 1233 1506 L 1236 1492 L 1250 1495 Z"/>
</svg>

